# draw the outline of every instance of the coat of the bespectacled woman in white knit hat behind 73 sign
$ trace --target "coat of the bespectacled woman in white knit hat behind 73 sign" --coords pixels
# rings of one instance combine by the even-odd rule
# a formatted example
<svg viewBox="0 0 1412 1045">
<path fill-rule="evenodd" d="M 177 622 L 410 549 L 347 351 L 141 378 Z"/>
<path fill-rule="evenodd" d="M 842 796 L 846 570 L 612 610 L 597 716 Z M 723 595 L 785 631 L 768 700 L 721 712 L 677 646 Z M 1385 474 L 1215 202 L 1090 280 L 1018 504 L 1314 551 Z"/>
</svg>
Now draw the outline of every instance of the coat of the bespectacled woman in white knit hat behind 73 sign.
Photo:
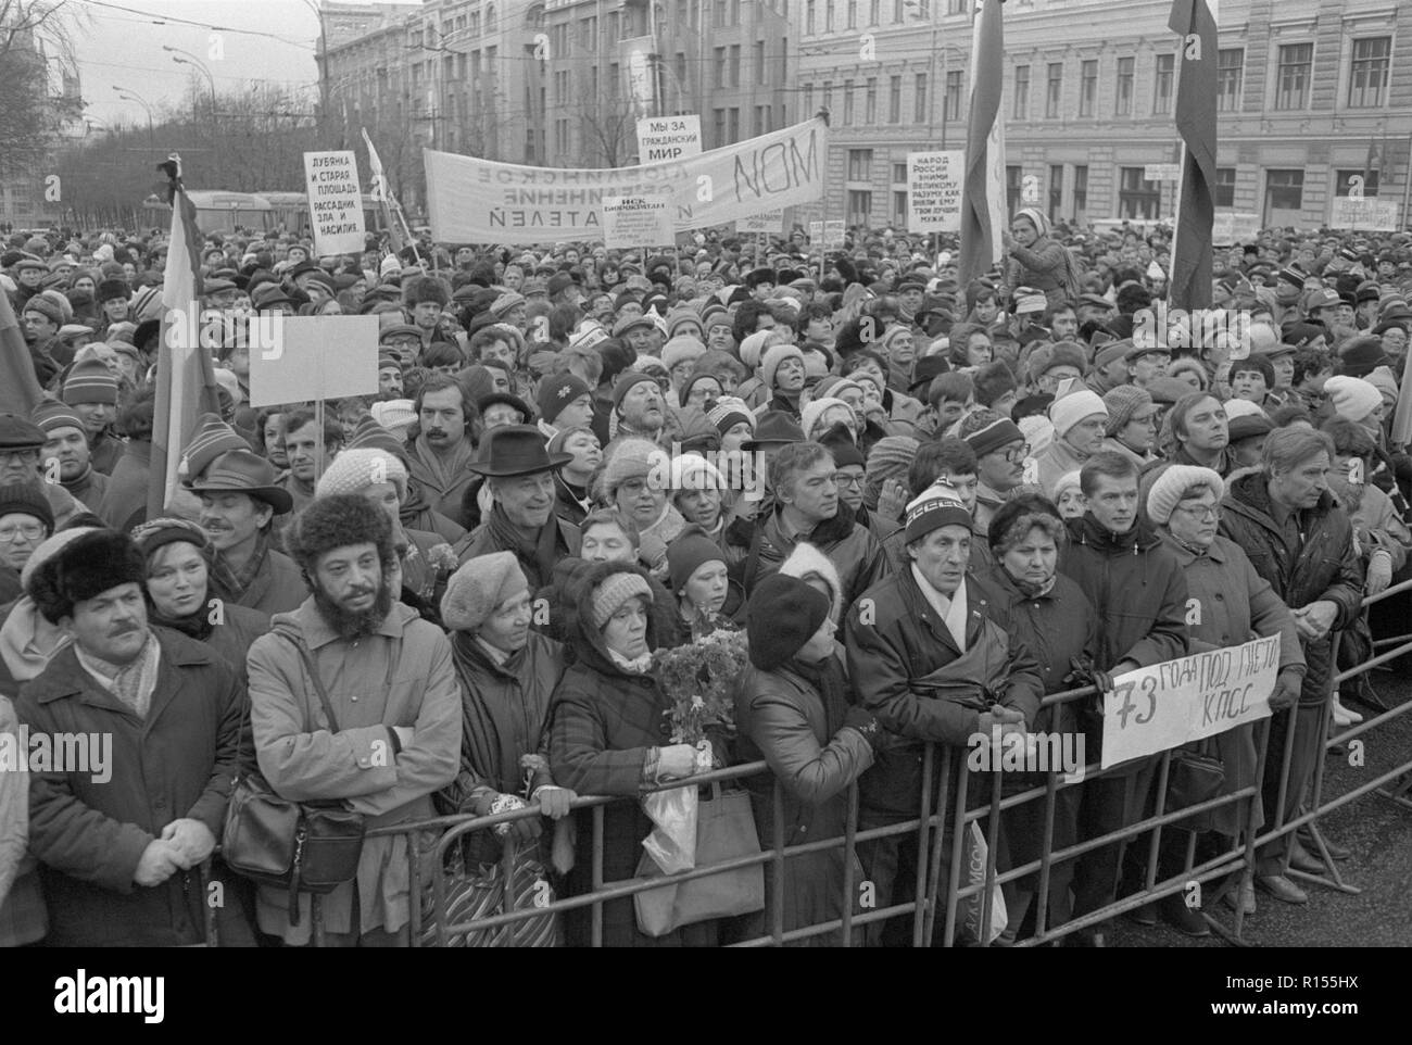
<svg viewBox="0 0 1412 1045">
<path fill-rule="evenodd" d="M 1193 617 L 1193 623 L 1187 626 L 1192 652 L 1220 650 L 1248 643 L 1257 635 L 1278 634 L 1279 669 L 1303 671 L 1305 654 L 1289 607 L 1279 600 L 1269 582 L 1250 565 L 1250 558 L 1240 545 L 1217 535 L 1204 555 L 1193 555 L 1173 541 L 1171 534 L 1163 534 L 1162 539 L 1172 549 L 1186 576 L 1190 599 L 1200 607 L 1200 616 Z M 1219 794 L 1230 795 L 1241 788 L 1260 785 L 1260 778 L 1255 775 L 1258 757 L 1254 723 L 1217 733 L 1214 747 L 1226 765 L 1226 780 Z M 1213 828 L 1221 835 L 1238 836 L 1247 819 L 1244 806 L 1245 802 L 1240 802 L 1213 809 Z M 1255 809 L 1257 819 L 1251 826 L 1260 828 L 1264 823 L 1264 813 L 1258 802 Z"/>
</svg>

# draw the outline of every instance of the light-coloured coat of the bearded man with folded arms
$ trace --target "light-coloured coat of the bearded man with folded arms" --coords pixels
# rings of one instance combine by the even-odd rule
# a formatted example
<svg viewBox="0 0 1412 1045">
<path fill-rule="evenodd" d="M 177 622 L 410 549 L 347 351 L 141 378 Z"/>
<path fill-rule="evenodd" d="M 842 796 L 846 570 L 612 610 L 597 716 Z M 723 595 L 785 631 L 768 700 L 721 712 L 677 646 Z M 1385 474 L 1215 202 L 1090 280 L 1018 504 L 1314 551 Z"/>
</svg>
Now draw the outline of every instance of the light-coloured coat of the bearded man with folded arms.
<svg viewBox="0 0 1412 1045">
<path fill-rule="evenodd" d="M 273 628 L 247 658 L 254 750 L 270 787 L 297 802 L 343 799 L 370 830 L 432 816 L 431 796 L 455 778 L 460 756 L 460 688 L 446 635 L 394 603 L 371 635 L 349 643 L 312 596 L 278 614 Z M 308 650 L 328 691 L 336 733 L 297 644 Z M 415 732 L 395 756 L 393 726 Z M 412 842 L 401 833 L 363 843 L 356 878 L 361 932 L 395 933 L 411 918 L 411 904 L 419 902 L 419 883 L 409 881 Z M 347 883 L 323 897 L 329 932 L 352 931 L 353 892 Z M 261 887 L 260 928 L 287 943 L 308 942 L 308 894 L 299 905 L 299 925 L 292 926 L 285 892 Z"/>
</svg>

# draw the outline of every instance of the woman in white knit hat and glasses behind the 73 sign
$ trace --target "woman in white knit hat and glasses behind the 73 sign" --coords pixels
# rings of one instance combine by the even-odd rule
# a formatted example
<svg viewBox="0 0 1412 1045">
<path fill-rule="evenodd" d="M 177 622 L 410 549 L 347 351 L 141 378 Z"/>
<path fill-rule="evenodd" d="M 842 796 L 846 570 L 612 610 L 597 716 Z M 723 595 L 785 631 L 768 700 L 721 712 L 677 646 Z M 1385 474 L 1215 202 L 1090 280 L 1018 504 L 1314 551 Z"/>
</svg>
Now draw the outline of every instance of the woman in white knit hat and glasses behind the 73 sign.
<svg viewBox="0 0 1412 1045">
<path fill-rule="evenodd" d="M 1186 576 L 1189 602 L 1187 630 L 1192 652 L 1241 645 L 1260 635 L 1279 635 L 1279 675 L 1271 707 L 1288 707 L 1299 698 L 1303 686 L 1305 655 L 1289 607 L 1279 599 L 1269 582 L 1262 579 L 1244 549 L 1217 532 L 1221 517 L 1221 497 L 1226 483 L 1209 467 L 1169 465 L 1154 480 L 1147 494 L 1148 518 L 1156 527 L 1163 544 L 1176 555 Z M 1193 611 L 1195 610 L 1195 611 Z M 1255 787 L 1251 799 L 1231 802 L 1211 811 L 1213 829 L 1199 840 L 1196 860 L 1204 861 L 1217 853 L 1230 852 L 1248 832 L 1264 825 L 1260 804 L 1260 778 L 1255 775 L 1255 726 L 1245 724 L 1217 733 L 1204 747 L 1214 747 L 1226 765 L 1226 780 L 1219 795 Z M 1267 753 L 1278 758 L 1278 751 Z M 1168 828 L 1163 837 L 1162 877 L 1176 874 L 1185 860 L 1185 832 Z M 1168 840 L 1171 839 L 1171 840 Z M 1254 909 L 1254 890 L 1240 901 L 1247 912 Z M 1197 922 L 1182 902 L 1180 894 L 1162 901 L 1162 914 L 1193 935 L 1204 935 L 1206 925 Z"/>
</svg>

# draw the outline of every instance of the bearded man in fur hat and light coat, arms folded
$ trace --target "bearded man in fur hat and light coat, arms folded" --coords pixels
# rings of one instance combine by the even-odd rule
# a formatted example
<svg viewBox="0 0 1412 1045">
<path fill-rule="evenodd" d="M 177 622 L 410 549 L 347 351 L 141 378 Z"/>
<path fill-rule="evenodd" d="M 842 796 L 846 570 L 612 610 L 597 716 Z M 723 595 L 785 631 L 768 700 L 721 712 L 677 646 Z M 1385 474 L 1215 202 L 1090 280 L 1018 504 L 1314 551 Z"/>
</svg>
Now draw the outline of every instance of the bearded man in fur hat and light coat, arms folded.
<svg viewBox="0 0 1412 1045">
<path fill-rule="evenodd" d="M 369 830 L 433 816 L 432 794 L 459 768 L 460 691 L 446 635 L 393 602 L 388 513 L 360 494 L 319 497 L 285 539 L 309 596 L 250 647 L 261 774 L 285 798 L 342 802 Z M 322 900 L 325 946 L 407 946 L 408 837 L 363 842 L 354 880 Z M 287 891 L 260 887 L 260 928 L 306 945 L 309 895 L 298 902 L 292 919 Z"/>
</svg>

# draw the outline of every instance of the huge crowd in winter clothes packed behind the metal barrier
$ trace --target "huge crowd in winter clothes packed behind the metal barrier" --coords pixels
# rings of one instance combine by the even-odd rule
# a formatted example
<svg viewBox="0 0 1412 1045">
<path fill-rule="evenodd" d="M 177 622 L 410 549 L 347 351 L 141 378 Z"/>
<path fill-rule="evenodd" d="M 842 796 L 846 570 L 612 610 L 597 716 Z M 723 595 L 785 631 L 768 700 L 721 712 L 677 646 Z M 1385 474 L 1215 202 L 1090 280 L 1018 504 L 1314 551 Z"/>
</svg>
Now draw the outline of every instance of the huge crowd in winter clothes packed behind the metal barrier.
<svg viewBox="0 0 1412 1045">
<path fill-rule="evenodd" d="M 1365 657 L 1365 595 L 1412 571 L 1412 459 L 1389 439 L 1412 236 L 1267 230 L 1217 251 L 1204 315 L 1161 308 L 1169 246 L 1022 209 L 1004 261 L 962 284 L 891 229 L 822 260 L 801 230 L 326 258 L 297 234 L 212 234 L 220 410 L 148 517 L 164 236 L 10 237 L 0 282 L 44 398 L 0 415 L 0 730 L 112 737 L 112 765 L 0 772 L 0 942 L 198 943 L 219 878 L 222 945 L 309 943 L 308 894 L 216 852 L 241 771 L 369 828 L 535 809 L 507 830 L 572 897 L 594 884 L 575 796 L 626 799 L 603 815 L 609 883 L 638 867 L 644 792 L 706 763 L 768 764 L 750 782 L 767 847 L 842 837 L 854 781 L 860 830 L 902 823 L 925 743 L 1063 734 L 1097 761 L 1101 699 L 1045 695 L 1255 635 L 1281 637 L 1271 757 L 1258 780 L 1252 724 L 1206 746 L 1226 794 L 1260 796 L 1223 806 L 1197 853 L 1293 818 L 1326 720 L 1368 696 L 1333 685 L 1334 647 Z M 268 314 L 377 316 L 377 391 L 254 410 Z M 652 655 L 717 631 L 746 633 L 750 665 L 703 758 L 672 741 Z M 1156 767 L 1060 789 L 1053 847 L 1149 815 Z M 1001 870 L 1045 829 L 1042 804 L 1007 811 Z M 1163 832 L 1163 877 L 1187 837 Z M 326 945 L 407 945 L 426 842 L 366 840 L 322 898 Z M 1288 871 L 1319 870 L 1312 849 L 1269 842 L 1260 895 L 1226 898 L 1309 902 Z M 858 859 L 877 908 L 925 885 L 914 835 Z M 1038 876 L 1012 883 L 997 943 L 1131 895 L 1145 859 L 1111 843 L 1056 864 L 1043 925 Z M 788 861 L 786 931 L 858 902 L 843 870 L 842 847 Z M 611 900 L 602 939 L 709 946 L 764 916 L 648 936 Z M 1180 897 L 1135 916 L 1207 932 Z M 589 908 L 562 922 L 552 938 L 589 940 Z"/>
</svg>

